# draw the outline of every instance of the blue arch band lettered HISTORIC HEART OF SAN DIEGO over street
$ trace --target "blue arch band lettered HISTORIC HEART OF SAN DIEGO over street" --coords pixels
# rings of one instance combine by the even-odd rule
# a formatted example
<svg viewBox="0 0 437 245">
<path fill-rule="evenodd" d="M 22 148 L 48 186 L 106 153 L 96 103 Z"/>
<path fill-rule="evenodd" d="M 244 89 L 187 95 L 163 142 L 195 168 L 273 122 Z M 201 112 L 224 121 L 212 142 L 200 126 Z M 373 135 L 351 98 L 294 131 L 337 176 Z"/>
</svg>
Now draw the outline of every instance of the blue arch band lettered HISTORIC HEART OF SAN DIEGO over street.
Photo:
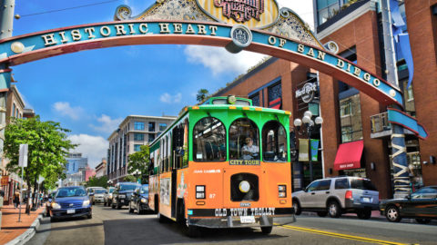
<svg viewBox="0 0 437 245">
<path fill-rule="evenodd" d="M 83 50 L 135 44 L 226 46 L 233 25 L 195 21 L 124 21 L 76 25 L 0 41 L 0 63 L 17 65 Z M 338 55 L 284 36 L 251 29 L 245 49 L 304 64 L 349 83 L 385 105 L 402 106 L 399 89 Z"/>
</svg>

